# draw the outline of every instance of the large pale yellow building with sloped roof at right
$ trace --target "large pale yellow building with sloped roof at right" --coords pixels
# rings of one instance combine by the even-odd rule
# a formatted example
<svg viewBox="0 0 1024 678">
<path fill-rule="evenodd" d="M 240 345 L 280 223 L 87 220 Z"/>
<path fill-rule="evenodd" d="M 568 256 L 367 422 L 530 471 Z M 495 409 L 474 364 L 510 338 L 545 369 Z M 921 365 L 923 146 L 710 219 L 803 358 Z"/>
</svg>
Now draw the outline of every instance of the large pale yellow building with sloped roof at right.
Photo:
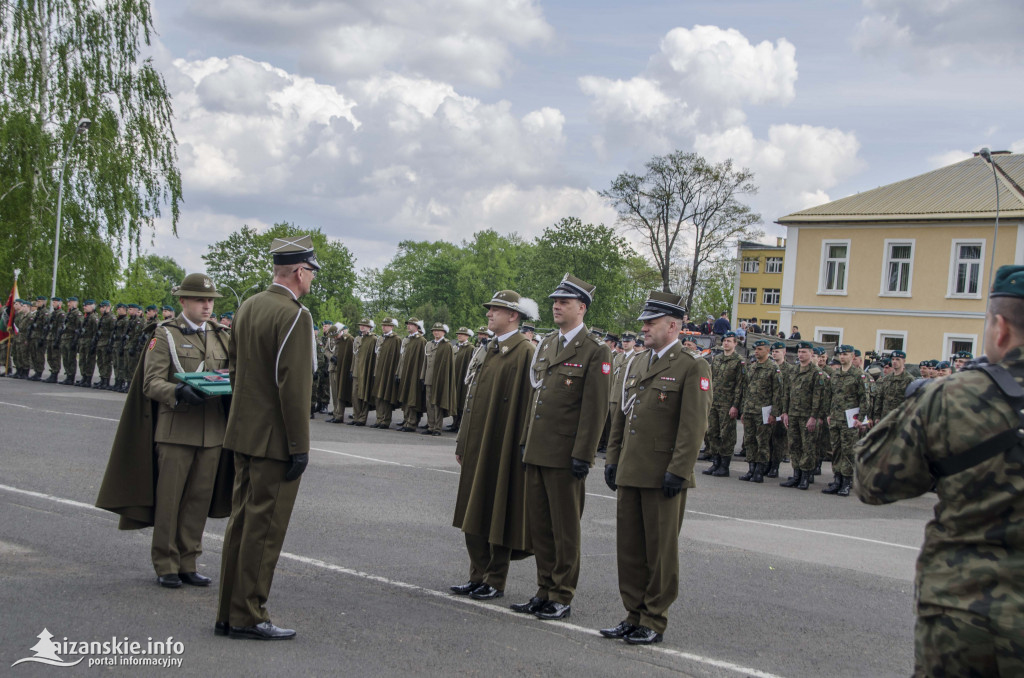
<svg viewBox="0 0 1024 678">
<path fill-rule="evenodd" d="M 995 268 L 1024 263 L 1024 155 L 992 160 L 994 176 L 975 156 L 780 218 L 786 334 L 911 363 L 982 353 L 993 250 Z"/>
</svg>

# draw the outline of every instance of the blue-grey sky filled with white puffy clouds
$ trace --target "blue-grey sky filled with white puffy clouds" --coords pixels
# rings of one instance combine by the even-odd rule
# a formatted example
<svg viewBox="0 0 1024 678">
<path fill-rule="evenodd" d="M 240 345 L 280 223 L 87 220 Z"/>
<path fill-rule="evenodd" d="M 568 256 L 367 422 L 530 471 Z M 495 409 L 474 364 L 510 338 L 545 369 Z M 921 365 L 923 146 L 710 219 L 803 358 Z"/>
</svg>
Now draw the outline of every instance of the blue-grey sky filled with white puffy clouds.
<svg viewBox="0 0 1024 678">
<path fill-rule="evenodd" d="M 773 221 L 1024 152 L 1020 0 L 154 0 L 187 269 L 290 221 L 380 266 L 401 240 L 614 223 L 655 154 L 756 174 Z"/>
</svg>

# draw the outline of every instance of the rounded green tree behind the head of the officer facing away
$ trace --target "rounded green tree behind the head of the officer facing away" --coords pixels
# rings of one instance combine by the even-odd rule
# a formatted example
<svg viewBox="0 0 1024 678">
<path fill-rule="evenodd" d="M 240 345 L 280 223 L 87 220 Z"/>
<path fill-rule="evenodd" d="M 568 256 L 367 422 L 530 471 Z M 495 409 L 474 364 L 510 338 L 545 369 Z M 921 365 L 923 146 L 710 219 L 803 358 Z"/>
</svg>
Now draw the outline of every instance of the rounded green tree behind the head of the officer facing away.
<svg viewBox="0 0 1024 678">
<path fill-rule="evenodd" d="M 295 236 L 312 237 L 316 259 L 322 266 L 309 294 L 302 298 L 313 320 L 344 322 L 349 326 L 357 321 L 361 304 L 353 294 L 355 259 L 352 253 L 341 241 L 329 239 L 319 228 L 298 228 L 290 223 L 274 224 L 263 232 L 244 225 L 210 246 L 209 252 L 203 255 L 206 273 L 224 295 L 217 300 L 217 311 L 234 310 L 241 301 L 266 289 L 273 280 L 270 244 L 274 238 Z"/>
</svg>

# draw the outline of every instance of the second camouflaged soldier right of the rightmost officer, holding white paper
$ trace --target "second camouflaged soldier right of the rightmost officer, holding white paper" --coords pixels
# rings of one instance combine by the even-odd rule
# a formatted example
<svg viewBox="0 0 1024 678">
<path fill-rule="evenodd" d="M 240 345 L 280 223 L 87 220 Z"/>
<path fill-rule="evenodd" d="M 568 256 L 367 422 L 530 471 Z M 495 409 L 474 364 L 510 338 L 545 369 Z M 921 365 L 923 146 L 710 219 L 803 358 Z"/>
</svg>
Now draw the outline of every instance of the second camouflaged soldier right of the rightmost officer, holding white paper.
<svg viewBox="0 0 1024 678">
<path fill-rule="evenodd" d="M 740 411 L 748 470 L 739 476 L 740 480 L 764 482 L 771 457 L 771 429 L 775 414 L 782 412 L 783 395 L 782 371 L 771 359 L 768 341 L 758 339 L 754 342 L 754 362 L 743 366 Z"/>
</svg>

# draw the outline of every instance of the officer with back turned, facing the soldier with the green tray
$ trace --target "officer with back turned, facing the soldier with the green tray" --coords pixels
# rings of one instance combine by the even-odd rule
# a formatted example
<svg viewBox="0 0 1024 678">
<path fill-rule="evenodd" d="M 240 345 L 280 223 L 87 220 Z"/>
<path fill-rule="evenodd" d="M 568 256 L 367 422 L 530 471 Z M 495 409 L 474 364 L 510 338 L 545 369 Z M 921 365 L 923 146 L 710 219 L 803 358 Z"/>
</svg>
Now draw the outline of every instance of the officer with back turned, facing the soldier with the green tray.
<svg viewBox="0 0 1024 678">
<path fill-rule="evenodd" d="M 231 327 L 231 412 L 224 447 L 234 451 L 231 517 L 224 531 L 214 631 L 280 640 L 265 603 L 309 461 L 306 402 L 312 390 L 313 321 L 299 297 L 319 270 L 312 238 L 275 239 L 273 283 L 242 302 Z"/>
</svg>

